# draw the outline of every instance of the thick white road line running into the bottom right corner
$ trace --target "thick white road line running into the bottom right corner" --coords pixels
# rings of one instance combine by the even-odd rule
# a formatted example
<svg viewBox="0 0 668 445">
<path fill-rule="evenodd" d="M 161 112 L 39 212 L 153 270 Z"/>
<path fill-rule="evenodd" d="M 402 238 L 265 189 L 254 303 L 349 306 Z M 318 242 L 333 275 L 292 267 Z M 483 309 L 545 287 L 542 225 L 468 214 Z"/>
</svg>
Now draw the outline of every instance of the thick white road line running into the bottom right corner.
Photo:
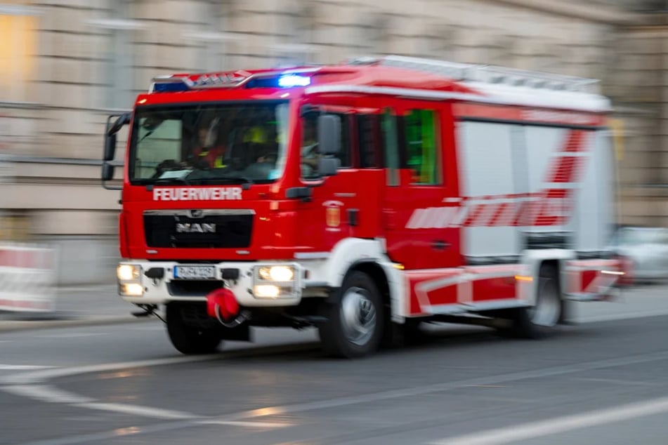
<svg viewBox="0 0 668 445">
<path fill-rule="evenodd" d="M 551 436 L 572 430 L 620 422 L 638 417 L 653 416 L 668 411 L 668 397 L 641 401 L 615 408 L 572 414 L 538 422 L 530 422 L 511 427 L 497 428 L 479 433 L 465 434 L 439 441 L 433 445 L 503 445 L 511 442 Z"/>
</svg>

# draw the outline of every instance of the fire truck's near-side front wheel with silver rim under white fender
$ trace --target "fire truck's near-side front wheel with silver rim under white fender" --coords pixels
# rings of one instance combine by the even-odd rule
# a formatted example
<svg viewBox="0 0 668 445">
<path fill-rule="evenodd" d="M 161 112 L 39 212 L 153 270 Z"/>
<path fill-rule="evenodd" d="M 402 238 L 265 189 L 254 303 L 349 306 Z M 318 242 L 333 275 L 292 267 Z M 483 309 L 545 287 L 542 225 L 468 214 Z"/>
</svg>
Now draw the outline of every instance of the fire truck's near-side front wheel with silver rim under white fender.
<svg viewBox="0 0 668 445">
<path fill-rule="evenodd" d="M 351 272 L 331 301 L 322 303 L 327 318 L 318 327 L 327 354 L 350 359 L 378 350 L 384 331 L 384 307 L 378 287 L 364 272 Z"/>
</svg>

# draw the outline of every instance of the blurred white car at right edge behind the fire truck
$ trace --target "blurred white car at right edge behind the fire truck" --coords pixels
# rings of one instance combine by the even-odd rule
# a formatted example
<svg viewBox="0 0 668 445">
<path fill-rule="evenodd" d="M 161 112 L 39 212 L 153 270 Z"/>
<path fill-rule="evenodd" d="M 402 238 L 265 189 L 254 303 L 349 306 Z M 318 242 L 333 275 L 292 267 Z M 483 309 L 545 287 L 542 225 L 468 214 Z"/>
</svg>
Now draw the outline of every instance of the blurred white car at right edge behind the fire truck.
<svg viewBox="0 0 668 445">
<path fill-rule="evenodd" d="M 635 283 L 668 279 L 668 229 L 622 227 L 615 232 L 610 250 L 629 260 Z"/>
</svg>

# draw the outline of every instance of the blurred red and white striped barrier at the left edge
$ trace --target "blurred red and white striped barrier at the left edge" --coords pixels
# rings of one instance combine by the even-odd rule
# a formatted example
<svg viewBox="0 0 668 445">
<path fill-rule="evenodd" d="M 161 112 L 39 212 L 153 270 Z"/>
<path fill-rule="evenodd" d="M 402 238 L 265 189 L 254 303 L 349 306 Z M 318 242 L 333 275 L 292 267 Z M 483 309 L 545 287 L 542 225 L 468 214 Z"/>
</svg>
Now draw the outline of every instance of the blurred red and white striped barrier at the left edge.
<svg viewBox="0 0 668 445">
<path fill-rule="evenodd" d="M 56 263 L 53 248 L 0 244 L 0 310 L 53 312 Z"/>
</svg>

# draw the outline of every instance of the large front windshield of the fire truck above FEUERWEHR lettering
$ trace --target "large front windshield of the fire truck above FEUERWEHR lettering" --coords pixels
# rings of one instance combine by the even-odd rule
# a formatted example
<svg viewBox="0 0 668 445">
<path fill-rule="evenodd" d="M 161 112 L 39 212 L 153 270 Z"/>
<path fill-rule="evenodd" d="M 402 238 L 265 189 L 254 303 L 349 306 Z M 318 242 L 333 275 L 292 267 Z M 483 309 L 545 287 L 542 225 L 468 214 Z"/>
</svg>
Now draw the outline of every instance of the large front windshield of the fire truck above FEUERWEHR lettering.
<svg viewBox="0 0 668 445">
<path fill-rule="evenodd" d="M 130 182 L 273 182 L 285 165 L 287 115 L 287 102 L 138 108 Z"/>
</svg>

